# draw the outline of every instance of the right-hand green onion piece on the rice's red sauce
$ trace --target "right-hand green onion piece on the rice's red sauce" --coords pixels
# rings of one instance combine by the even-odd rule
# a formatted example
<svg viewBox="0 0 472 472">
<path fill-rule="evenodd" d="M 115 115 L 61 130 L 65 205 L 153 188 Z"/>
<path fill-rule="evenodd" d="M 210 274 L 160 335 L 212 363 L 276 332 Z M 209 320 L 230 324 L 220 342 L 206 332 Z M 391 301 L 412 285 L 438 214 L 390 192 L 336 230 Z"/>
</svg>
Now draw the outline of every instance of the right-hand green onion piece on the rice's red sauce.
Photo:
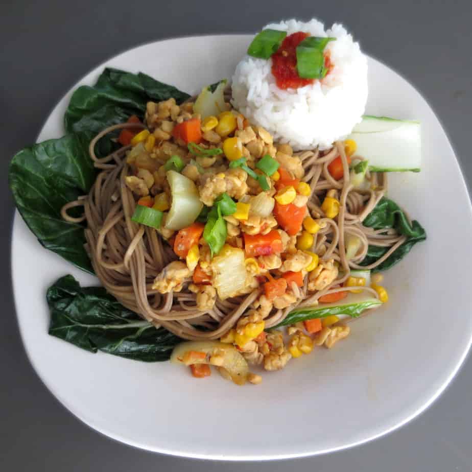
<svg viewBox="0 0 472 472">
<path fill-rule="evenodd" d="M 329 41 L 336 38 L 318 38 L 309 36 L 298 44 L 297 72 L 302 79 L 322 79 L 326 75 L 323 50 Z"/>
</svg>

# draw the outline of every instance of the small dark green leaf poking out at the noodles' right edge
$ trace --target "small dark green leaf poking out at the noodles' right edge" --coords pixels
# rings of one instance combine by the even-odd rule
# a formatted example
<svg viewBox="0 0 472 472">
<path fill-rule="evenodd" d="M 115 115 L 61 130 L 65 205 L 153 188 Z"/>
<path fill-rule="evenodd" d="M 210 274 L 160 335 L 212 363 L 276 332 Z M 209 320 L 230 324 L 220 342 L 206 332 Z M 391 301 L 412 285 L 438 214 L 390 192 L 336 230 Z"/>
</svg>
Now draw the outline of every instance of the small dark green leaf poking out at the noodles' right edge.
<svg viewBox="0 0 472 472">
<path fill-rule="evenodd" d="M 393 200 L 383 197 L 375 208 L 367 215 L 363 224 L 374 229 L 395 228 L 400 234 L 407 237 L 407 240 L 398 247 L 385 261 L 372 269 L 372 272 L 390 269 L 397 262 L 401 261 L 410 252 L 410 249 L 420 241 L 426 239 L 426 231 L 416 221 L 411 225 L 402 210 Z M 367 255 L 361 262 L 361 266 L 368 266 L 380 259 L 389 248 L 369 245 Z"/>
</svg>

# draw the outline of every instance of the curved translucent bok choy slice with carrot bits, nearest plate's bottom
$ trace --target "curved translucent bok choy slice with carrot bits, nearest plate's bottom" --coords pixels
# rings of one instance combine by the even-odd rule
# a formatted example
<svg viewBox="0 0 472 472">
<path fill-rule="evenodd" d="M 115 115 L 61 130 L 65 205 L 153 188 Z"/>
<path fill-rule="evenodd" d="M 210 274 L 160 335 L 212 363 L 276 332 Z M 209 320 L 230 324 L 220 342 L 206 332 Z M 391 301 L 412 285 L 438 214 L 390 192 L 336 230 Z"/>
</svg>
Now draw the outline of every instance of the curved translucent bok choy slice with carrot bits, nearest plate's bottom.
<svg viewBox="0 0 472 472">
<path fill-rule="evenodd" d="M 246 383 L 249 371 L 246 359 L 233 345 L 218 341 L 186 341 L 175 346 L 171 362 L 188 365 L 185 362 L 185 354 L 192 351 L 205 353 L 205 358 L 196 360 L 194 364 L 212 364 L 211 357 L 218 356 L 219 362 L 215 365 L 218 365 L 220 369 L 225 369 L 235 384 Z M 222 360 L 220 356 L 223 357 Z"/>
</svg>

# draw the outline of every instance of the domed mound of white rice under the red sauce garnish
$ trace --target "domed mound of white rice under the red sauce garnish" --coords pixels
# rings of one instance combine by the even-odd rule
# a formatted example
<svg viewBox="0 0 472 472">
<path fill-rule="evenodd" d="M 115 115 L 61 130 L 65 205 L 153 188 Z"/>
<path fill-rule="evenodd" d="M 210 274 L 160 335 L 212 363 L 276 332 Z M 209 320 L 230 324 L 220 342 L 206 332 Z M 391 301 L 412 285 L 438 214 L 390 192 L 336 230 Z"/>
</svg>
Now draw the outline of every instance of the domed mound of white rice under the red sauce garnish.
<svg viewBox="0 0 472 472">
<path fill-rule="evenodd" d="M 359 43 L 342 25 L 335 24 L 325 31 L 316 19 L 308 23 L 291 19 L 266 28 L 287 31 L 288 35 L 302 31 L 311 36 L 335 37 L 325 48 L 334 68 L 312 85 L 281 90 L 271 72 L 272 59 L 246 56 L 232 78 L 233 106 L 295 150 L 331 147 L 352 131 L 364 113 L 367 59 Z"/>
</svg>

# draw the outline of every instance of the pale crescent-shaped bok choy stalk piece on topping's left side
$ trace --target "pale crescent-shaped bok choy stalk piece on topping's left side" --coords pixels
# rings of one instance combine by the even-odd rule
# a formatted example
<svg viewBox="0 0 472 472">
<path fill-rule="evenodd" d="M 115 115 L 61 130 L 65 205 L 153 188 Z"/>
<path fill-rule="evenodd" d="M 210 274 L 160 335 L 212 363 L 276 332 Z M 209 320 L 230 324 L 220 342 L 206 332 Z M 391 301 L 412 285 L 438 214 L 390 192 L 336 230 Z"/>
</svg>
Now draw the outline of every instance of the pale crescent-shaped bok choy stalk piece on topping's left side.
<svg viewBox="0 0 472 472">
<path fill-rule="evenodd" d="M 165 227 L 176 230 L 190 226 L 203 207 L 195 183 L 176 171 L 167 172 L 167 181 L 171 187 L 172 204 Z"/>
</svg>

